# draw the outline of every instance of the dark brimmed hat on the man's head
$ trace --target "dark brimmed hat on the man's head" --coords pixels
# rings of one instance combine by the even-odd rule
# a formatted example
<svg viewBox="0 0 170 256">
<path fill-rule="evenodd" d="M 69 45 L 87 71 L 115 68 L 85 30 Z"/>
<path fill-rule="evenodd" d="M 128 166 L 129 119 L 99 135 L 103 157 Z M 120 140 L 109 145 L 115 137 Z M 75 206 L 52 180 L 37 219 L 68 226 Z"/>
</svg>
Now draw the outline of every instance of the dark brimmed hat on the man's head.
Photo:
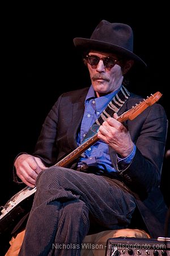
<svg viewBox="0 0 170 256">
<path fill-rule="evenodd" d="M 133 53 L 133 31 L 123 23 L 110 23 L 101 20 L 90 39 L 74 38 L 75 47 L 82 51 L 99 50 L 118 53 L 146 66 L 146 63 Z"/>
</svg>

